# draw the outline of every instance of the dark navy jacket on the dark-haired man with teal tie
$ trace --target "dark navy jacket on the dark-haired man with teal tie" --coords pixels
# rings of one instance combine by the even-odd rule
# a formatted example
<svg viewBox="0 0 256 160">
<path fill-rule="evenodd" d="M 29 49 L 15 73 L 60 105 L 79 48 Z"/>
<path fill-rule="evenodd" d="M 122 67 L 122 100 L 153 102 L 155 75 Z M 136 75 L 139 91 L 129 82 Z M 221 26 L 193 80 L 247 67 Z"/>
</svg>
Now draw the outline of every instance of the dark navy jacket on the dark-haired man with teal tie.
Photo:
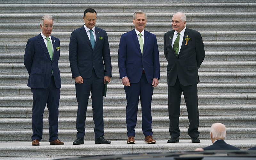
<svg viewBox="0 0 256 160">
<path fill-rule="evenodd" d="M 95 33 L 96 41 L 94 48 L 92 48 L 84 26 L 71 33 L 69 42 L 69 62 L 73 78 L 77 76 L 82 76 L 82 78 L 86 79 L 90 78 L 92 76 L 93 67 L 98 78 L 112 76 L 107 33 L 105 30 L 98 27 L 95 27 Z"/>
</svg>

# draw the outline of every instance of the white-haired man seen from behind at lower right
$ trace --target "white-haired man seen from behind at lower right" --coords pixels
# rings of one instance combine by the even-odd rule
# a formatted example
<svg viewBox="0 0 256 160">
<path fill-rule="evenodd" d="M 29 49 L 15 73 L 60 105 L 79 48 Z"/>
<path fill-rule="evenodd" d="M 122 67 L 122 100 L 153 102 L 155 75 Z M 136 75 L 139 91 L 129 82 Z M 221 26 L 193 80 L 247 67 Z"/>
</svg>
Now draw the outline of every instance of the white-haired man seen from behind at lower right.
<svg viewBox="0 0 256 160">
<path fill-rule="evenodd" d="M 195 151 L 204 151 L 204 150 L 240 150 L 235 146 L 231 146 L 224 142 L 226 138 L 226 127 L 222 123 L 214 123 L 211 126 L 211 141 L 213 145 L 205 147 L 205 148 L 196 148 Z"/>
</svg>

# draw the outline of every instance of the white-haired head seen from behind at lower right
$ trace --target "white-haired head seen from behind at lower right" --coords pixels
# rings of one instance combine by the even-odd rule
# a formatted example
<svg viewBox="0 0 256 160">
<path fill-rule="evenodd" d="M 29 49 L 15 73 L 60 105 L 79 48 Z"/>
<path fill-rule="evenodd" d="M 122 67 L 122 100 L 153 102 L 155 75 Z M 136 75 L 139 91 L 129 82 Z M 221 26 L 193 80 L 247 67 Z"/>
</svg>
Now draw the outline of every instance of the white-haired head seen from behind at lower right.
<svg viewBox="0 0 256 160">
<path fill-rule="evenodd" d="M 211 126 L 212 139 L 225 139 L 226 127 L 222 123 L 214 123 Z"/>
</svg>

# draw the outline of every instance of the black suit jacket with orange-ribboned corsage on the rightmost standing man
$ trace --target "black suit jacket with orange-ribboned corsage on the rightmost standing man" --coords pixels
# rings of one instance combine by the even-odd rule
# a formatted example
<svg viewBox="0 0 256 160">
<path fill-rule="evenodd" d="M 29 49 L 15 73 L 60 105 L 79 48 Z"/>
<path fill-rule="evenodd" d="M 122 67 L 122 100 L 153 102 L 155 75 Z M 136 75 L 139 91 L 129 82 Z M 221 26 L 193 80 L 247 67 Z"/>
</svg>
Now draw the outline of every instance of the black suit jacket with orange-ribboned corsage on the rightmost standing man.
<svg viewBox="0 0 256 160">
<path fill-rule="evenodd" d="M 168 61 L 167 83 L 169 86 L 174 86 L 178 76 L 180 84 L 184 86 L 195 85 L 199 81 L 198 68 L 205 57 L 201 34 L 186 28 L 178 57 L 171 46 L 173 34 L 174 30 L 164 34 L 164 55 Z M 186 41 L 184 40 L 186 36 L 190 38 L 187 45 L 185 45 Z"/>
</svg>

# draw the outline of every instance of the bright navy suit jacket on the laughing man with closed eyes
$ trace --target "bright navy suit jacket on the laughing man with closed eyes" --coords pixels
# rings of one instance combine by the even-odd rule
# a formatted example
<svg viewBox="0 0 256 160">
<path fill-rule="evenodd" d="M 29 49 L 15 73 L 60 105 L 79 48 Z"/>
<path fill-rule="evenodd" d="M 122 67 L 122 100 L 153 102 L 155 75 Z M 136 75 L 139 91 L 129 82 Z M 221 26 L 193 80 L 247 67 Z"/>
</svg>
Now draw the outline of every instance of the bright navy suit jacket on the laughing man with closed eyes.
<svg viewBox="0 0 256 160">
<path fill-rule="evenodd" d="M 144 67 L 148 83 L 160 79 L 159 52 L 156 35 L 144 30 L 143 55 L 135 30 L 121 36 L 118 49 L 120 78 L 127 76 L 130 83 L 138 83 Z"/>
</svg>

